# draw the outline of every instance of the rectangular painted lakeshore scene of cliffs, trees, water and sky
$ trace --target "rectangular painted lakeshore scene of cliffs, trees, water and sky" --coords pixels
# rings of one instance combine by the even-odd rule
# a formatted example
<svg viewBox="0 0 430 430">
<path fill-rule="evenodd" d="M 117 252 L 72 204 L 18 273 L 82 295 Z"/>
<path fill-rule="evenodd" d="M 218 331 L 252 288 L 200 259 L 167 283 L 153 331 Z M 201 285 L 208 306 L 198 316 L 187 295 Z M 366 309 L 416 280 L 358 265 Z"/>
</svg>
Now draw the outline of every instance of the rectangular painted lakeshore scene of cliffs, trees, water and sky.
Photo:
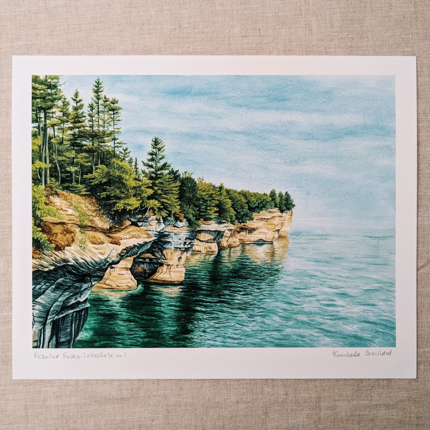
<svg viewBox="0 0 430 430">
<path fill-rule="evenodd" d="M 395 95 L 34 75 L 33 347 L 396 347 Z"/>
</svg>

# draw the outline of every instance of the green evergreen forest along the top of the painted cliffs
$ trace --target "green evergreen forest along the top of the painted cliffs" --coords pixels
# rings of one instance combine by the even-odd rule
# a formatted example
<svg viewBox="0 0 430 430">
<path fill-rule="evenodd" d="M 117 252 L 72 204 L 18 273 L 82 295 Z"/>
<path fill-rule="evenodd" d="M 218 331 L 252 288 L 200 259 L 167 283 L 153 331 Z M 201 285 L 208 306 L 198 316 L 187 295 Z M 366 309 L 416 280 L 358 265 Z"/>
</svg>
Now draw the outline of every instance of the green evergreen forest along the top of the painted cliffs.
<svg viewBox="0 0 430 430">
<path fill-rule="evenodd" d="M 236 224 L 271 207 L 294 208 L 288 191 L 233 190 L 175 170 L 159 137 L 152 138 L 147 159 L 138 160 L 121 140 L 119 100 L 105 94 L 99 78 L 87 106 L 78 89 L 68 100 L 62 85 L 59 76 L 32 78 L 33 247 L 49 249 L 40 229 L 43 216 L 56 216 L 47 188 L 95 197 L 117 225 L 133 214 L 151 214 L 186 219 L 197 229 L 213 218 Z"/>
</svg>

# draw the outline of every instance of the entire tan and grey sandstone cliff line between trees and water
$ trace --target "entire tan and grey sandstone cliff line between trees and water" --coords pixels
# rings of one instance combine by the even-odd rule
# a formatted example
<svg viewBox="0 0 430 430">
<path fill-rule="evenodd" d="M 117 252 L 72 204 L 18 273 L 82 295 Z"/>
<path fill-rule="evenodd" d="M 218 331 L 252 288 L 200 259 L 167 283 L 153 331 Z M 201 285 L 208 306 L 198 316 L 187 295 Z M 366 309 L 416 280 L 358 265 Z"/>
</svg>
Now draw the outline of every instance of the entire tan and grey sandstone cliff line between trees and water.
<svg viewBox="0 0 430 430">
<path fill-rule="evenodd" d="M 59 218 L 43 218 L 53 251 L 33 250 L 33 346 L 71 347 L 96 289 L 129 290 L 137 280 L 180 283 L 191 252 L 216 253 L 241 243 L 272 242 L 290 230 L 292 212 L 277 209 L 230 224 L 213 219 L 189 230 L 186 221 L 139 216 L 111 226 L 90 197 L 49 196 Z M 261 250 L 250 250 L 250 252 Z"/>
</svg>

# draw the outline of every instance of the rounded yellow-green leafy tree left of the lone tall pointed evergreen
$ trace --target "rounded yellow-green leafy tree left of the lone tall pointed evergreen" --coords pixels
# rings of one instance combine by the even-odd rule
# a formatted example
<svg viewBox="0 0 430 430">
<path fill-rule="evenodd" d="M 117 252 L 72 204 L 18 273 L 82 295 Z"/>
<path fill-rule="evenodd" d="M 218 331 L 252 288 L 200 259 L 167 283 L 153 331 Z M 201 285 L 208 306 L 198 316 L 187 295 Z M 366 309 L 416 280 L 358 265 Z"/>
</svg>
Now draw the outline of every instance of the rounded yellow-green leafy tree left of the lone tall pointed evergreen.
<svg viewBox="0 0 430 430">
<path fill-rule="evenodd" d="M 114 223 L 154 203 L 147 199 L 152 194 L 149 181 L 137 179 L 133 168 L 124 161 L 114 159 L 109 166 L 98 166 L 87 180 L 91 193 Z"/>
</svg>

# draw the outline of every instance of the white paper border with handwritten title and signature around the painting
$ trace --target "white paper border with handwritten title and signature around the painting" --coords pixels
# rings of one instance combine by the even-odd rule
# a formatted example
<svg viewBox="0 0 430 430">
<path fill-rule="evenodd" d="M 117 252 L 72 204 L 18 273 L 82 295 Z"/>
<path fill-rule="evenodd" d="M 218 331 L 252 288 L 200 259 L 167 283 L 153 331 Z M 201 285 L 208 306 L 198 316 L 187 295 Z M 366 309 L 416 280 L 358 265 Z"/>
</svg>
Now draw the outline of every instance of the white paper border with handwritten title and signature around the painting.
<svg viewBox="0 0 430 430">
<path fill-rule="evenodd" d="M 14 379 L 416 378 L 417 104 L 415 57 L 14 56 L 12 61 L 12 344 Z M 31 75 L 395 75 L 396 347 L 31 347 Z M 334 358 L 333 351 L 360 353 Z M 111 353 L 86 358 L 84 353 Z M 35 353 L 58 359 L 36 359 Z M 80 354 L 66 358 L 63 354 Z M 121 354 L 122 357 L 117 357 Z M 124 356 L 125 355 L 125 356 Z"/>
</svg>

